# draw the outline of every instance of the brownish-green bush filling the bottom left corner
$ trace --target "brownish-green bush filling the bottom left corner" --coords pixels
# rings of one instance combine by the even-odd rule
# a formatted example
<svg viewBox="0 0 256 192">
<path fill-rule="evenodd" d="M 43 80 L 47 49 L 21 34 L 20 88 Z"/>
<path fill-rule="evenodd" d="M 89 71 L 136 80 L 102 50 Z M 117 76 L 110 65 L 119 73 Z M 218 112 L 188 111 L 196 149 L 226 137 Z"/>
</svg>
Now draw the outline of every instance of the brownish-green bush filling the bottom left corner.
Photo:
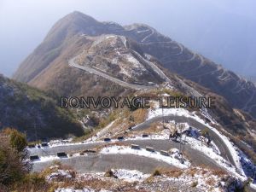
<svg viewBox="0 0 256 192">
<path fill-rule="evenodd" d="M 44 174 L 31 173 L 26 137 L 19 131 L 5 128 L 0 131 L 0 191 L 53 191 Z"/>
</svg>

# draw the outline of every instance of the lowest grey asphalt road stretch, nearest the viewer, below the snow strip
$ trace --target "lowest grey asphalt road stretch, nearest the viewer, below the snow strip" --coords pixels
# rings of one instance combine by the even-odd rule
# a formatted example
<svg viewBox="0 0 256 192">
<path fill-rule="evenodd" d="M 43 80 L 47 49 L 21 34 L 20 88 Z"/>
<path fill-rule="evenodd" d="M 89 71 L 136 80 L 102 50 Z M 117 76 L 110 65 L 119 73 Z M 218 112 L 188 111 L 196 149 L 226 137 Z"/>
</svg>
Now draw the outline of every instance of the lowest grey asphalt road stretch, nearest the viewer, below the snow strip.
<svg viewBox="0 0 256 192">
<path fill-rule="evenodd" d="M 72 158 L 61 158 L 62 164 L 72 166 L 77 172 L 106 172 L 108 169 L 138 170 L 151 173 L 158 167 L 172 168 L 165 162 L 132 154 L 89 154 Z M 34 163 L 33 172 L 41 172 L 51 161 Z"/>
</svg>

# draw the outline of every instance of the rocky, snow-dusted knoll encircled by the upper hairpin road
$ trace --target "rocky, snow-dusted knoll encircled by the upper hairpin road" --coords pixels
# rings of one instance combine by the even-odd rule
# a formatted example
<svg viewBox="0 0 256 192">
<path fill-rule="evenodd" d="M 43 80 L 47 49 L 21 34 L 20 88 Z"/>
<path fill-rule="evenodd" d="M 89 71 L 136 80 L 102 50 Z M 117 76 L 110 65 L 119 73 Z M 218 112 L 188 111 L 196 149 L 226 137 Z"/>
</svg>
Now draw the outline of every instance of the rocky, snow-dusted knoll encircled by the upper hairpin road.
<svg viewBox="0 0 256 192">
<path fill-rule="evenodd" d="M 134 54 L 135 51 L 142 53 L 136 42 L 124 36 L 103 35 L 92 38 L 90 47 L 84 49 L 77 60 L 82 66 L 96 68 L 125 82 L 148 85 L 163 83 L 159 75 Z"/>
</svg>

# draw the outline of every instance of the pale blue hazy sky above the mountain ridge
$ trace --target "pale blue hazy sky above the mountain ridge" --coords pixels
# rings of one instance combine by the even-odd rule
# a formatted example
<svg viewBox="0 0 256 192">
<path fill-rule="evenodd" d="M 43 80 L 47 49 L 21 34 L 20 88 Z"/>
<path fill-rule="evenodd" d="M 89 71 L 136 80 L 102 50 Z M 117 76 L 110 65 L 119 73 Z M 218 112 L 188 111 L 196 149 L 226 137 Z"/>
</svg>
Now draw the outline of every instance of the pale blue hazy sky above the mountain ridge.
<svg viewBox="0 0 256 192">
<path fill-rule="evenodd" d="M 256 74 L 253 0 L 3 0 L 0 73 L 11 77 L 61 17 L 78 10 L 121 25 L 146 23 L 247 77 Z"/>
</svg>

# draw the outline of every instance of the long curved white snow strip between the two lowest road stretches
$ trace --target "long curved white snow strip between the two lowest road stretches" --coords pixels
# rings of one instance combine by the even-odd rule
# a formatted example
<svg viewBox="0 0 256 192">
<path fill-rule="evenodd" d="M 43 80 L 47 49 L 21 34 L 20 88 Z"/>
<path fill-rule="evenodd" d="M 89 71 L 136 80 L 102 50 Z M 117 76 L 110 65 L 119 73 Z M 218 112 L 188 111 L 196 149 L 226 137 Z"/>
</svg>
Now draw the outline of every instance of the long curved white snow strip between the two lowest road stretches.
<svg viewBox="0 0 256 192">
<path fill-rule="evenodd" d="M 179 160 L 174 158 L 173 156 L 164 156 L 161 155 L 159 152 L 150 152 L 147 151 L 144 148 L 141 149 L 132 149 L 125 146 L 110 146 L 106 148 L 102 148 L 101 154 L 135 154 L 143 157 L 152 158 L 154 160 L 160 160 L 164 161 L 172 166 L 177 166 L 178 168 L 184 169 L 188 168 L 190 166 L 190 163 L 188 160 L 184 160 L 184 163 L 182 164 Z"/>
</svg>

